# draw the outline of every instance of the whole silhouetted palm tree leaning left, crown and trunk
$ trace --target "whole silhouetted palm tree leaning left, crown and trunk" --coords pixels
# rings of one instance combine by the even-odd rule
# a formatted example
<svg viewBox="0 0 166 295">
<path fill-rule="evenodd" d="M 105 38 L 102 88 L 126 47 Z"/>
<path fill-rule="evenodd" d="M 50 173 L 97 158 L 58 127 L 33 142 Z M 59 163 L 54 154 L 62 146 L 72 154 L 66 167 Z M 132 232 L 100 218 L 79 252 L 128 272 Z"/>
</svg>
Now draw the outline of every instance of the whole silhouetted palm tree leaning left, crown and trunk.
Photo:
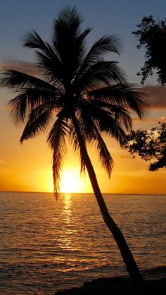
<svg viewBox="0 0 166 295">
<path fill-rule="evenodd" d="M 20 142 L 33 138 L 51 126 L 47 143 L 53 150 L 53 183 L 59 192 L 60 171 L 66 156 L 66 139 L 79 151 L 81 171 L 87 169 L 103 220 L 120 249 L 131 279 L 141 280 L 139 268 L 122 232 L 110 217 L 96 179 L 87 145 L 94 143 L 101 165 L 108 176 L 113 168 L 101 134 L 122 145 L 125 131 L 132 127 L 130 112 L 139 118 L 146 103 L 115 61 L 103 54 L 120 54 L 120 41 L 105 35 L 86 47 L 90 28 L 81 29 L 82 17 L 76 8 L 65 8 L 53 23 L 51 42 L 44 42 L 34 30 L 25 35 L 23 45 L 35 49 L 40 78 L 8 69 L 1 86 L 17 92 L 8 102 L 15 124 L 25 123 Z"/>
</svg>

